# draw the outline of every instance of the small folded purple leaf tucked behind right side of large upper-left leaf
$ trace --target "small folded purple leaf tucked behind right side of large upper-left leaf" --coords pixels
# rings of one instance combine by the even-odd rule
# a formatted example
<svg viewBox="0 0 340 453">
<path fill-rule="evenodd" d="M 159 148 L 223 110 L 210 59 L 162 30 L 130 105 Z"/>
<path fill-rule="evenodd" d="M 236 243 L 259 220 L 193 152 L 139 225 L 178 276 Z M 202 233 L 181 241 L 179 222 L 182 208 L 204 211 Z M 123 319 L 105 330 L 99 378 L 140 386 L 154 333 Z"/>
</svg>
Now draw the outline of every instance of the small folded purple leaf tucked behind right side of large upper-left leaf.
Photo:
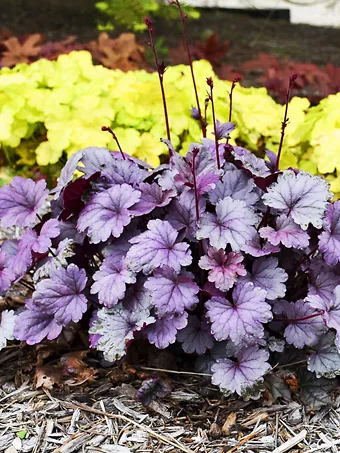
<svg viewBox="0 0 340 453">
<path fill-rule="evenodd" d="M 157 183 L 141 183 L 138 186 L 141 191 L 140 200 L 131 208 L 133 215 L 148 214 L 153 209 L 167 206 L 176 195 L 174 190 L 162 190 Z"/>
</svg>

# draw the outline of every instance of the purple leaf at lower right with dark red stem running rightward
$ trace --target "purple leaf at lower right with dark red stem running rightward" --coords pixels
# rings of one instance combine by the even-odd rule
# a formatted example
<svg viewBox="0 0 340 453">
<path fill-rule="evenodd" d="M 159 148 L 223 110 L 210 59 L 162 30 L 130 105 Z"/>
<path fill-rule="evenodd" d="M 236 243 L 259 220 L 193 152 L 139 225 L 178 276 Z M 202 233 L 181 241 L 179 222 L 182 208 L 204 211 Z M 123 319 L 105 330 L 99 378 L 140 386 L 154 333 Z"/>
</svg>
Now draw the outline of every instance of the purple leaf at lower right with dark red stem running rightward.
<svg viewBox="0 0 340 453">
<path fill-rule="evenodd" d="M 316 344 L 318 338 L 326 330 L 321 316 L 309 318 L 317 312 L 304 300 L 296 302 L 280 300 L 276 302 L 274 312 L 287 319 L 289 324 L 285 328 L 285 339 L 288 344 L 292 344 L 298 349 Z"/>
</svg>

